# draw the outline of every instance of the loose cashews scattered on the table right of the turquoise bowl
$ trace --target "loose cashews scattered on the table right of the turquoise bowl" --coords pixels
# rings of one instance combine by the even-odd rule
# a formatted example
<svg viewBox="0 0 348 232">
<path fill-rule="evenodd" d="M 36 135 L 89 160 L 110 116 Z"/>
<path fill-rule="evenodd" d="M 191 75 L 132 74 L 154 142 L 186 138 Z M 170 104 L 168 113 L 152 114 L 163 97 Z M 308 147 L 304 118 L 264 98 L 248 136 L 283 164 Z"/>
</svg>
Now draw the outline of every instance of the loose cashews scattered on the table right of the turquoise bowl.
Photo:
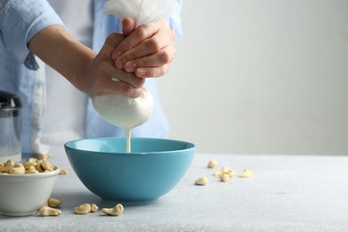
<svg viewBox="0 0 348 232">
<path fill-rule="evenodd" d="M 211 160 L 208 162 L 207 167 L 213 169 L 219 165 L 219 162 L 216 160 Z M 220 178 L 222 182 L 228 182 L 232 177 L 236 175 L 236 170 L 233 170 L 229 167 L 222 167 L 220 170 L 214 172 L 213 176 Z M 253 171 L 249 169 L 244 169 L 244 171 L 238 175 L 238 178 L 252 178 Z M 196 186 L 206 186 L 208 184 L 208 178 L 198 178 L 195 180 Z"/>
</svg>

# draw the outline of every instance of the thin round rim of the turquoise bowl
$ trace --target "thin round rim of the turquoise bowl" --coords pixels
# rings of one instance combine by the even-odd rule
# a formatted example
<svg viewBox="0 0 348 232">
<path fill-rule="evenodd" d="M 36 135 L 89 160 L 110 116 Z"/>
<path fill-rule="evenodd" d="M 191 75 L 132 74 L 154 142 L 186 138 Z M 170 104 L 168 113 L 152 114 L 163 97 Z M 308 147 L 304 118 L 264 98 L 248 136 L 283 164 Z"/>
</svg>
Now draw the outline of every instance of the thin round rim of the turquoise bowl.
<svg viewBox="0 0 348 232">
<path fill-rule="evenodd" d="M 103 140 L 103 139 L 127 139 L 127 138 L 126 137 L 86 137 L 86 138 L 80 138 L 80 139 L 75 139 L 75 140 L 71 140 L 69 142 L 66 142 L 64 144 L 64 148 L 65 148 L 65 150 L 70 149 L 70 150 L 74 150 L 74 151 L 83 151 L 84 153 L 118 154 L 118 155 L 128 156 L 128 157 L 134 157 L 134 156 L 138 156 L 138 155 L 156 155 L 156 154 L 162 154 L 162 153 L 179 153 L 179 152 L 190 151 L 190 150 L 196 149 L 196 145 L 194 143 L 191 143 L 191 142 L 186 142 L 186 141 L 178 140 L 178 139 L 158 138 L 158 137 L 132 137 L 131 140 L 138 140 L 138 139 L 142 139 L 142 140 L 166 140 L 166 141 L 171 141 L 171 142 L 184 143 L 186 145 L 189 145 L 190 147 L 184 148 L 184 149 L 179 149 L 179 150 L 170 150 L 170 151 L 162 151 L 162 152 L 115 153 L 115 152 L 95 152 L 95 151 L 89 151 L 89 150 L 82 150 L 82 149 L 77 149 L 77 148 L 70 146 L 70 144 L 77 143 L 79 141 L 95 140 L 95 139 Z M 132 154 L 132 155 L 129 156 L 129 154 Z"/>
</svg>

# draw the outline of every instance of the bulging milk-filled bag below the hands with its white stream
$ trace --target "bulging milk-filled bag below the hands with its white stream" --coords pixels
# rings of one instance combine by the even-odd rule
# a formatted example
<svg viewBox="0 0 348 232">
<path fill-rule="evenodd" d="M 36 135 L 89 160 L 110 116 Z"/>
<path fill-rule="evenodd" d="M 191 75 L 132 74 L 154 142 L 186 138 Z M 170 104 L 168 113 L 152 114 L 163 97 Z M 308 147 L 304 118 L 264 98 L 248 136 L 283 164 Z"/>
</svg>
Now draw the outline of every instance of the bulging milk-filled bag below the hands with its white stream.
<svg viewBox="0 0 348 232">
<path fill-rule="evenodd" d="M 137 98 L 126 95 L 98 95 L 92 99 L 96 112 L 114 126 L 127 132 L 127 153 L 130 153 L 131 129 L 143 124 L 153 113 L 153 95 L 143 88 Z"/>
</svg>

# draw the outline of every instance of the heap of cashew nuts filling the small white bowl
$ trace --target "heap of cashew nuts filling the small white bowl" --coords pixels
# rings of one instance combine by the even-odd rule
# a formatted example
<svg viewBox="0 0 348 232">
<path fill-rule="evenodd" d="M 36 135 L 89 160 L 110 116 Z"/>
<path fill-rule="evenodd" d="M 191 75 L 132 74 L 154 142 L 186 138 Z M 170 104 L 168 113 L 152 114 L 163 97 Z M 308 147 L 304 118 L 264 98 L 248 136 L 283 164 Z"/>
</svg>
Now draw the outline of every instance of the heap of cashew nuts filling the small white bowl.
<svg viewBox="0 0 348 232">
<path fill-rule="evenodd" d="M 1 174 L 34 174 L 56 170 L 54 165 L 47 161 L 30 157 L 27 162 L 14 163 L 11 159 L 7 162 L 0 162 Z"/>
</svg>

